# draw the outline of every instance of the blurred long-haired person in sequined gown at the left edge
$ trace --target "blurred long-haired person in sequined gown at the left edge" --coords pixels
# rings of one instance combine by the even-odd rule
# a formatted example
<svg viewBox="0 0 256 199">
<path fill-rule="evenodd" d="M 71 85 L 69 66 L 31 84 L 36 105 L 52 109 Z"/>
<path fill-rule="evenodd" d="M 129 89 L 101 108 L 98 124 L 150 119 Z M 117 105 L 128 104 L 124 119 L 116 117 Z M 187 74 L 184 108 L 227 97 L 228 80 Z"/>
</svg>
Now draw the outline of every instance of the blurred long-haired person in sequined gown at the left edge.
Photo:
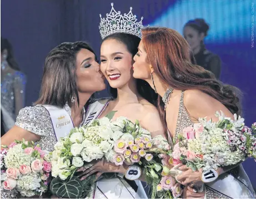
<svg viewBox="0 0 256 199">
<path fill-rule="evenodd" d="M 1 137 L 25 105 L 25 85 L 26 76 L 14 59 L 12 45 L 1 37 Z"/>
</svg>

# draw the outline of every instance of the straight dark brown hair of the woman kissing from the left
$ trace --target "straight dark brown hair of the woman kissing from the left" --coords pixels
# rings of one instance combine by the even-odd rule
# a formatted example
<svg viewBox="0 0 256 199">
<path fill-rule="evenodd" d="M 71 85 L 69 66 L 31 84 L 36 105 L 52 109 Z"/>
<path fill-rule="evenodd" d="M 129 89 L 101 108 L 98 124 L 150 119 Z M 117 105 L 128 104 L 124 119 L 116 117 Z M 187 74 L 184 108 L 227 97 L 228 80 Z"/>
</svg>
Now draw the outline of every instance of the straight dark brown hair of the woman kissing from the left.
<svg viewBox="0 0 256 199">
<path fill-rule="evenodd" d="M 44 63 L 41 92 L 35 104 L 63 107 L 68 103 L 71 106 L 74 96 L 79 105 L 76 58 L 81 49 L 87 49 L 95 55 L 92 48 L 82 41 L 62 43 L 51 50 Z"/>
</svg>

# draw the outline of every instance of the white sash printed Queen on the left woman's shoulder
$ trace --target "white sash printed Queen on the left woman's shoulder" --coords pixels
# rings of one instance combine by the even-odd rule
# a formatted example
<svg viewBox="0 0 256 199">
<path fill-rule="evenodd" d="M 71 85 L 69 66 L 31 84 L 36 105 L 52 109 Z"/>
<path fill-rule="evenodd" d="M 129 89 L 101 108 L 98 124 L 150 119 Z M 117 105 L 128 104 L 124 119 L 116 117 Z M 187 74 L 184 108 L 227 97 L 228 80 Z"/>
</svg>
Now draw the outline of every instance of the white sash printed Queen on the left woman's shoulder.
<svg viewBox="0 0 256 199">
<path fill-rule="evenodd" d="M 66 137 L 71 129 L 74 128 L 73 121 L 68 112 L 64 108 L 59 108 L 52 105 L 42 106 L 47 109 L 51 116 L 52 125 L 57 140 L 59 141 L 61 137 Z"/>
</svg>

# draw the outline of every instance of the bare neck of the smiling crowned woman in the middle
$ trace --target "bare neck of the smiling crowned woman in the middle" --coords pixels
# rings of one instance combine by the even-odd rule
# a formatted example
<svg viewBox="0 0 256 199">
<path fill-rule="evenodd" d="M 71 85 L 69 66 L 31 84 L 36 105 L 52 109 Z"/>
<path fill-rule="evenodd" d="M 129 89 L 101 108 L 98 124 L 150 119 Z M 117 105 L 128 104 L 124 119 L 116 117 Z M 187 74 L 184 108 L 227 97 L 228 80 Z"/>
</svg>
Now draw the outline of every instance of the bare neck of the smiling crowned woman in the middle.
<svg viewBox="0 0 256 199">
<path fill-rule="evenodd" d="M 127 85 L 122 88 L 117 88 L 117 98 L 118 104 L 136 103 L 139 95 L 136 88 L 136 82 L 130 81 Z"/>
</svg>

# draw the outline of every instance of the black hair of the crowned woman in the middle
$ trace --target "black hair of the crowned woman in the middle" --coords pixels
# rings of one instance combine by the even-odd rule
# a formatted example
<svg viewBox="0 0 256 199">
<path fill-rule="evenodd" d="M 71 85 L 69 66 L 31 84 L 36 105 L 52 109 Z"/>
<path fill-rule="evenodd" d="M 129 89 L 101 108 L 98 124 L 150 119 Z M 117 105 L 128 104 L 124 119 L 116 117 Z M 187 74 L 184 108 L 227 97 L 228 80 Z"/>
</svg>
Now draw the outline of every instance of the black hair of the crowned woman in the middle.
<svg viewBox="0 0 256 199">
<path fill-rule="evenodd" d="M 103 41 L 107 39 L 116 39 L 122 42 L 124 45 L 126 45 L 127 50 L 132 54 L 132 56 L 135 56 L 135 54 L 138 51 L 138 46 L 140 42 L 140 38 L 138 38 L 138 36 L 126 33 L 115 33 L 107 36 L 106 38 L 104 38 Z M 154 92 L 154 90 L 150 87 L 148 82 L 140 79 L 136 79 L 136 81 L 137 91 L 139 95 L 156 106 L 158 98 L 157 93 Z M 117 88 L 110 87 L 110 93 L 112 97 L 117 98 Z"/>
</svg>

